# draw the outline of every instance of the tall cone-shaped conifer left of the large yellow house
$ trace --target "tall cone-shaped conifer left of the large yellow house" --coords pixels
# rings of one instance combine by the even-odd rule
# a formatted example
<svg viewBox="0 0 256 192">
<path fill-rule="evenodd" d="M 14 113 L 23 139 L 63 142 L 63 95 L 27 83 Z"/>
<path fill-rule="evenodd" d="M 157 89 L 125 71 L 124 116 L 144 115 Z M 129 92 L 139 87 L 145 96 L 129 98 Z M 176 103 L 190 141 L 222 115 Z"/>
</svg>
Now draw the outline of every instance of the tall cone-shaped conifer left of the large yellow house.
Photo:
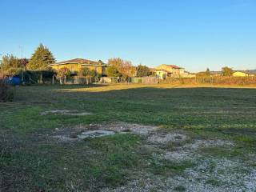
<svg viewBox="0 0 256 192">
<path fill-rule="evenodd" d="M 54 55 L 50 52 L 50 50 L 40 44 L 37 50 L 34 51 L 30 61 L 27 64 L 28 70 L 47 70 L 48 65 L 55 62 Z"/>
</svg>

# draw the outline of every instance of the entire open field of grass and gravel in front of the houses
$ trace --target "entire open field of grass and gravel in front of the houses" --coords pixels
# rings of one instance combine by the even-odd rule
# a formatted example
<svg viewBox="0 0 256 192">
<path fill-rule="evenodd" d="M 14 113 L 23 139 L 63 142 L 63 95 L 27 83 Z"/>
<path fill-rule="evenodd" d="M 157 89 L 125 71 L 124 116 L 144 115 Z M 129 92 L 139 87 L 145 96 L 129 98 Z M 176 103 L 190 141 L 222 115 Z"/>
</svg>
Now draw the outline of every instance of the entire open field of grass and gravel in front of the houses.
<svg viewBox="0 0 256 192">
<path fill-rule="evenodd" d="M 256 190 L 256 89 L 21 86 L 15 95 L 0 103 L 0 191 Z M 60 139 L 134 125 L 156 130 Z"/>
</svg>

